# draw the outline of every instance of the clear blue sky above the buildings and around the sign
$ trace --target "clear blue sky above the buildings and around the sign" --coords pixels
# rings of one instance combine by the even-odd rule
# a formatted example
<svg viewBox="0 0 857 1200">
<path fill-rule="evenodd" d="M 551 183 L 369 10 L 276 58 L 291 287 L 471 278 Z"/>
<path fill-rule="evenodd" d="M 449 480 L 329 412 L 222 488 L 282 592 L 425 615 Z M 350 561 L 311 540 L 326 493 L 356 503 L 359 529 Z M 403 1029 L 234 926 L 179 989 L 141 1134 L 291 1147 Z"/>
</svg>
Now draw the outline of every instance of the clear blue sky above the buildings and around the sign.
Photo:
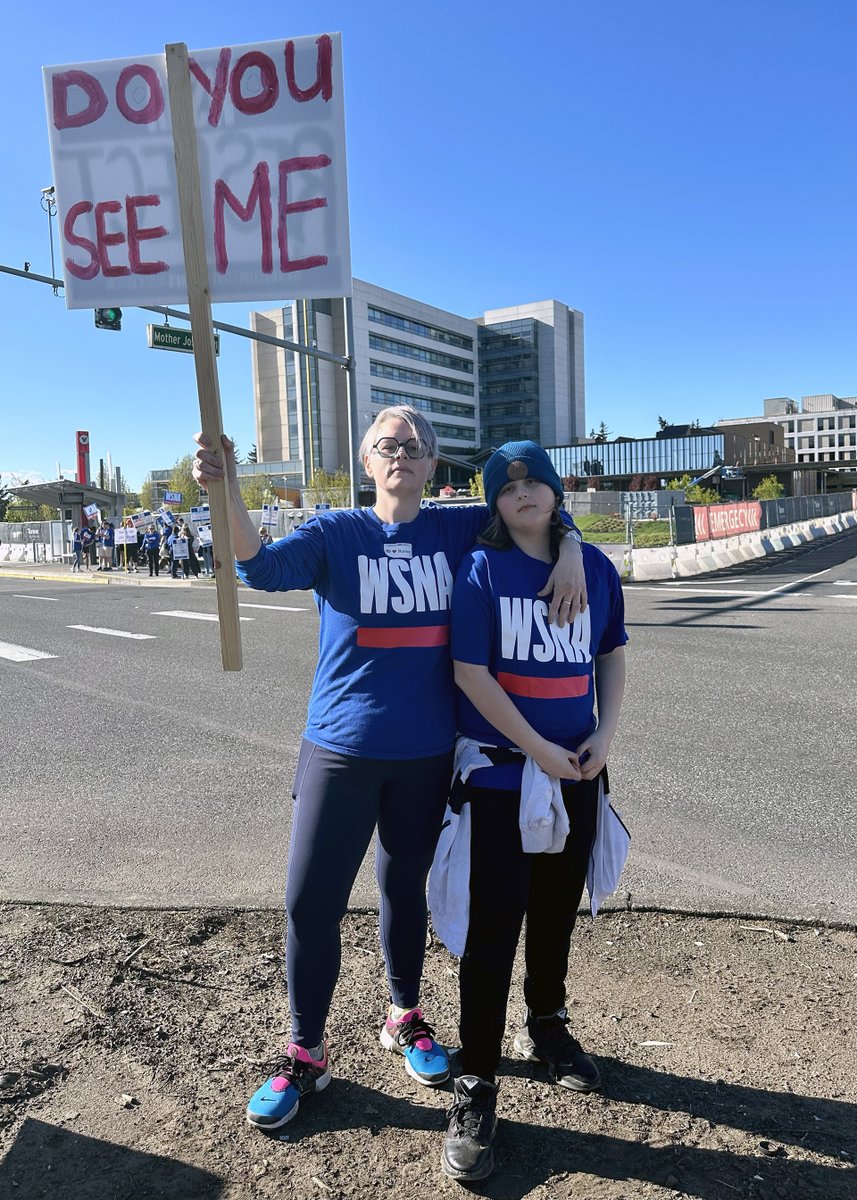
<svg viewBox="0 0 857 1200">
<path fill-rule="evenodd" d="M 14 5 L 0 263 L 50 274 L 42 66 L 324 31 L 343 35 L 356 276 L 473 316 L 580 308 L 587 428 L 645 437 L 659 415 L 857 394 L 851 0 Z M 191 449 L 192 359 L 148 349 L 152 319 L 125 310 L 100 331 L 0 275 L 1 473 L 71 473 L 77 428 L 134 487 Z M 218 361 L 246 455 L 248 343 L 223 337 Z"/>
</svg>

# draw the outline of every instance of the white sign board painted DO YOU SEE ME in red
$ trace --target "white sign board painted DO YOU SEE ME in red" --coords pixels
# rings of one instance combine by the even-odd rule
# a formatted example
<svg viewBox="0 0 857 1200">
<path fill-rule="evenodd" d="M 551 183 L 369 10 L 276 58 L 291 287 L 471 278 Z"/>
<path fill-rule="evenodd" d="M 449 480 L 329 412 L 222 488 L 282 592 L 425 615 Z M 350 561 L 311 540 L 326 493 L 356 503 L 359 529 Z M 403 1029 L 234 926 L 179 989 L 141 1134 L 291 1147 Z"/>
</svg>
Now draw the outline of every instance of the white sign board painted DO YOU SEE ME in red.
<svg viewBox="0 0 857 1200">
<path fill-rule="evenodd" d="M 350 295 L 340 35 L 190 71 L 211 300 Z M 166 54 L 43 76 L 67 307 L 186 302 Z"/>
</svg>

